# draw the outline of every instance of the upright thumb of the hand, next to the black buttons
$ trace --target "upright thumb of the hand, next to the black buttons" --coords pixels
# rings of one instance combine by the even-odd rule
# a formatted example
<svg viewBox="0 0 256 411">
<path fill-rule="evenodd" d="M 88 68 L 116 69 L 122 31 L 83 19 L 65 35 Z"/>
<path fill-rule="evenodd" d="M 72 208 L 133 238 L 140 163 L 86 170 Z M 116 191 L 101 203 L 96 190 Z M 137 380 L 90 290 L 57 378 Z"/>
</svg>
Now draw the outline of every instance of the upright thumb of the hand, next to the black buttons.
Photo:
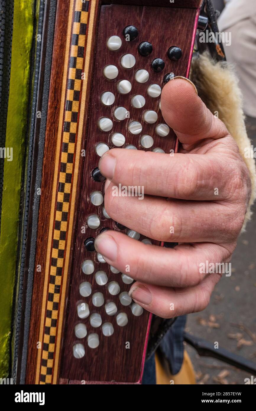
<svg viewBox="0 0 256 411">
<path fill-rule="evenodd" d="M 161 93 L 161 112 L 181 143 L 220 139 L 228 134 L 224 123 L 214 116 L 197 95 L 195 85 L 185 77 L 168 81 Z"/>
</svg>

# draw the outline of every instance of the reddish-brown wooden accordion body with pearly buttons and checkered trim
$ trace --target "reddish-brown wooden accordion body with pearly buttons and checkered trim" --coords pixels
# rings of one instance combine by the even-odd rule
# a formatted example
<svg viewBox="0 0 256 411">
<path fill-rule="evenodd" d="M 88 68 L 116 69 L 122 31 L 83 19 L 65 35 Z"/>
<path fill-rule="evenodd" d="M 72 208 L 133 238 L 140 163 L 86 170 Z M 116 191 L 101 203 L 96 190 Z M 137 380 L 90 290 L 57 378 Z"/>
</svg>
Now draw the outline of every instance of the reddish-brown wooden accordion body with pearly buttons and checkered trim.
<svg viewBox="0 0 256 411">
<path fill-rule="evenodd" d="M 177 150 L 173 130 L 166 133 L 160 94 L 166 74 L 189 76 L 201 1 L 163 0 L 160 4 L 154 0 L 70 0 L 57 1 L 56 9 L 52 3 L 46 2 L 42 25 L 41 91 L 37 101 L 37 109 L 46 117 L 42 183 L 35 218 L 33 196 L 37 186 L 32 178 L 28 226 L 34 224 L 36 236 L 34 240 L 33 233 L 29 236 L 25 251 L 24 286 L 28 288 L 23 295 L 17 381 L 140 383 L 151 314 L 145 310 L 141 313 L 127 297 L 129 272 L 120 273 L 108 266 L 93 247 L 93 239 L 103 229 L 136 236 L 108 218 L 104 210 L 104 181 L 97 172 L 99 153 L 116 146 L 154 150 L 155 155 L 159 150 Z M 124 29 L 130 25 L 138 34 L 127 41 Z M 50 26 L 53 48 L 49 66 Z M 113 45 L 110 42 L 107 46 L 112 36 L 118 36 L 121 45 L 115 37 Z M 152 44 L 149 55 L 139 53 L 142 42 Z M 167 55 L 174 46 L 182 51 L 178 60 Z M 127 54 L 135 59 L 128 58 L 128 63 L 122 60 Z M 159 72 L 152 69 L 156 58 L 165 63 Z M 118 69 L 112 79 L 105 75 L 108 65 Z M 138 81 L 138 70 L 148 72 L 148 79 L 146 76 L 143 82 Z M 128 92 L 129 83 L 124 89 L 120 87 L 123 80 L 131 85 Z M 107 92 L 110 94 L 104 99 Z M 145 99 L 140 108 L 132 103 L 137 95 Z M 122 110 L 117 114 L 118 107 L 125 108 L 125 115 Z M 149 110 L 157 113 L 154 124 L 145 121 L 144 114 Z M 122 120 L 118 119 L 120 115 Z M 101 119 L 107 119 L 102 127 Z M 138 122 L 142 130 L 133 123 L 136 133 L 131 132 L 131 122 Z M 157 125 L 162 125 L 159 132 Z M 39 169 L 41 127 L 37 122 L 35 173 Z M 150 136 L 150 142 L 142 136 Z M 122 145 L 118 145 L 120 138 L 121 142 L 125 138 Z M 96 228 L 88 225 L 91 215 L 96 215 L 96 222 L 99 219 Z M 140 236 L 141 240 L 145 237 Z M 111 282 L 118 284 L 118 293 L 110 292 Z M 108 335 L 102 328 L 106 323 Z"/>
</svg>

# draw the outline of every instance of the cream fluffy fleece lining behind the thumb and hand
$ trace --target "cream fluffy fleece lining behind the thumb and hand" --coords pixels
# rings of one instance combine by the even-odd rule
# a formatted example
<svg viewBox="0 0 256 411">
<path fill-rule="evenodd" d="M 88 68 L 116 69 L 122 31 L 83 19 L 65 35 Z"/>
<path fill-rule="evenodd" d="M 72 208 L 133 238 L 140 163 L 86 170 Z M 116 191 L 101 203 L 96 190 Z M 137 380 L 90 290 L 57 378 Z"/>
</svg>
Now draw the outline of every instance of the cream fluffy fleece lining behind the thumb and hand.
<svg viewBox="0 0 256 411">
<path fill-rule="evenodd" d="M 251 205 L 256 199 L 256 168 L 254 158 L 244 157 L 244 149 L 251 147 L 244 124 L 242 93 L 234 69 L 227 62 L 214 62 L 205 52 L 192 59 L 190 79 L 196 85 L 198 95 L 214 114 L 224 122 L 251 175 L 251 198 L 244 218 L 242 231 L 251 218 Z"/>
</svg>

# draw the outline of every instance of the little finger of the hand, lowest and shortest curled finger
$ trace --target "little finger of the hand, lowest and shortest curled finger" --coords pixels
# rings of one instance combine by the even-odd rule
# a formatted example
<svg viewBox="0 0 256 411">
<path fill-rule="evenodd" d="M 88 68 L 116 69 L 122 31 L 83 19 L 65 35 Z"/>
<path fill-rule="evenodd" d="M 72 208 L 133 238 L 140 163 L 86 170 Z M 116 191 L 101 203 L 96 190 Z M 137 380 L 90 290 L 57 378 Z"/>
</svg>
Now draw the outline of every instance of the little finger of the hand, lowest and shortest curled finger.
<svg viewBox="0 0 256 411">
<path fill-rule="evenodd" d="M 202 311 L 210 301 L 219 274 L 209 274 L 203 281 L 189 288 L 167 288 L 135 282 L 129 295 L 141 307 L 163 318 L 172 318 Z"/>
</svg>

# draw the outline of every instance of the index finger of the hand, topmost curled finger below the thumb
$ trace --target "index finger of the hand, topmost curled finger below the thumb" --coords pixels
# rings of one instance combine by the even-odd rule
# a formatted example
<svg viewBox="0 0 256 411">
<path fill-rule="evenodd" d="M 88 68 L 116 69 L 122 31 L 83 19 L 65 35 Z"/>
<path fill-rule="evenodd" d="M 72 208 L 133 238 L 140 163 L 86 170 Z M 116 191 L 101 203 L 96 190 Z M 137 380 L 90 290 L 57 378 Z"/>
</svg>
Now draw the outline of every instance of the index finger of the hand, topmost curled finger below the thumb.
<svg viewBox="0 0 256 411">
<path fill-rule="evenodd" d="M 114 148 L 99 161 L 101 174 L 115 185 L 143 187 L 145 194 L 187 200 L 218 200 L 229 194 L 229 163 L 219 153 L 174 156 Z"/>
</svg>

